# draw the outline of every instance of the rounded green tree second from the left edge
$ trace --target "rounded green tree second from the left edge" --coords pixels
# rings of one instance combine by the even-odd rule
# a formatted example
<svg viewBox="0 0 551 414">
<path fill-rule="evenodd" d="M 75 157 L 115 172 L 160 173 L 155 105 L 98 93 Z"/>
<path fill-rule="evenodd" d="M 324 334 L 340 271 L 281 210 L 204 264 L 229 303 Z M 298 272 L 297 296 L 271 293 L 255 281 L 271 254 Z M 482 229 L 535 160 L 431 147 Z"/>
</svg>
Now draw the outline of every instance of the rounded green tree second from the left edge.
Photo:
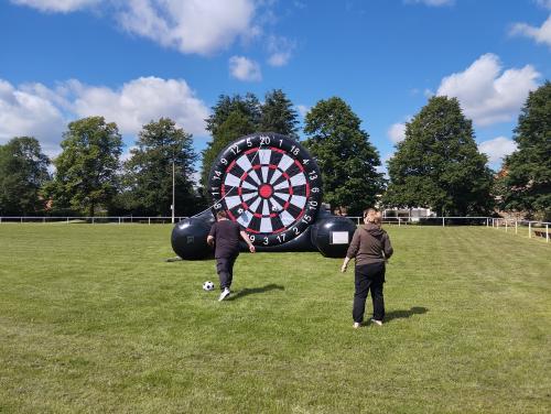
<svg viewBox="0 0 551 414">
<path fill-rule="evenodd" d="M 94 216 L 117 193 L 122 140 L 117 124 L 89 117 L 68 124 L 62 153 L 54 161 L 54 179 L 44 188 L 54 208 L 71 207 Z"/>
</svg>

